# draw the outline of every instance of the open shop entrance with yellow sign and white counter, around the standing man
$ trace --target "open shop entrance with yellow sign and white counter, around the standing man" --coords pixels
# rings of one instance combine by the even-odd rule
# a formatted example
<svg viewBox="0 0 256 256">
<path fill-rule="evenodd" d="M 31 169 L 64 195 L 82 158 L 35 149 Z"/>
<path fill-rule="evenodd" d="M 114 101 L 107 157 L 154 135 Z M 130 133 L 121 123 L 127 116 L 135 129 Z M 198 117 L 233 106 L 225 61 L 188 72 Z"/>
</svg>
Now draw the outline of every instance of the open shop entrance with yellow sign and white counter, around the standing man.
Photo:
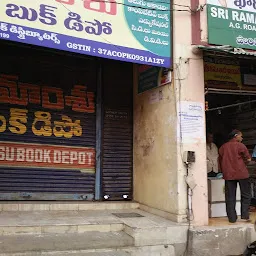
<svg viewBox="0 0 256 256">
<path fill-rule="evenodd" d="M 213 135 L 218 149 L 229 140 L 229 133 L 238 129 L 243 143 L 253 154 L 256 146 L 256 61 L 243 54 L 221 50 L 204 52 L 206 129 Z M 207 145 L 207 154 L 209 153 Z M 218 156 L 218 151 L 217 151 Z M 209 163 L 209 161 L 207 161 Z M 213 169 L 207 166 L 207 171 Z M 216 167 L 218 171 L 218 166 Z M 252 205 L 255 204 L 256 165 L 248 166 Z M 215 170 L 216 171 L 216 170 Z M 209 215 L 226 217 L 225 182 L 221 176 L 208 177 Z M 209 175 L 210 176 L 210 175 Z M 237 190 L 237 214 L 240 215 L 240 189 Z M 226 218 L 225 218 L 226 220 Z"/>
</svg>

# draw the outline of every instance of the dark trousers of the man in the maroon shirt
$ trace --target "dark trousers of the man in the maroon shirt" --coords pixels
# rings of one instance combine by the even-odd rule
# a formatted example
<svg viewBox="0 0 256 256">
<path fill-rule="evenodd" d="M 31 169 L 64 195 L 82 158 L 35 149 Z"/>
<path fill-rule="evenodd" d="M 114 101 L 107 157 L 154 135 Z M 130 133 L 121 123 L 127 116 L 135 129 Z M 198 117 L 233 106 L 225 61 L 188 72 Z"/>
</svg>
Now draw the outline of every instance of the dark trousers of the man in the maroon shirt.
<svg viewBox="0 0 256 256">
<path fill-rule="evenodd" d="M 226 210 L 229 222 L 236 222 L 236 189 L 239 183 L 241 191 L 241 218 L 249 219 L 249 207 L 251 203 L 251 188 L 249 179 L 226 180 L 225 181 L 225 199 Z"/>
</svg>

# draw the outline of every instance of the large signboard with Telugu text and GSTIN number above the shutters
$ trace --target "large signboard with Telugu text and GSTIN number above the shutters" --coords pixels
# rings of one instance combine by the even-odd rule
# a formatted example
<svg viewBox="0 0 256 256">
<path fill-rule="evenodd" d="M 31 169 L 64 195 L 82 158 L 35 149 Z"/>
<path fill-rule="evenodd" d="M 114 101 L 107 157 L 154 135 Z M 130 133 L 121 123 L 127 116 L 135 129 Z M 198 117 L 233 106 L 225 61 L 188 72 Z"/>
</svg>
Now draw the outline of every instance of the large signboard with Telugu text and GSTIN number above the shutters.
<svg viewBox="0 0 256 256">
<path fill-rule="evenodd" d="M 170 1 L 1 0 L 0 39 L 171 65 Z"/>
</svg>

